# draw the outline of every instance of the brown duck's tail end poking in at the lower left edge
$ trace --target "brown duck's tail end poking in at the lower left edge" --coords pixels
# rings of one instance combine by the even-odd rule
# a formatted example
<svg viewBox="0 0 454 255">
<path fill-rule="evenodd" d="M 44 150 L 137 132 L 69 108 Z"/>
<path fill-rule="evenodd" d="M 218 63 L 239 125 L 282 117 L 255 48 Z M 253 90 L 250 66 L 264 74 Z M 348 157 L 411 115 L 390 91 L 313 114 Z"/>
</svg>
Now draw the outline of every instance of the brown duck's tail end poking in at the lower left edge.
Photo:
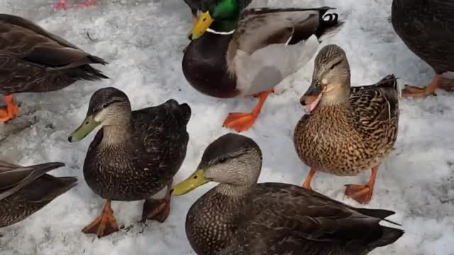
<svg viewBox="0 0 454 255">
<path fill-rule="evenodd" d="M 45 174 L 60 162 L 19 166 L 0 161 L 0 227 L 25 220 L 77 184 L 75 177 Z"/>
</svg>

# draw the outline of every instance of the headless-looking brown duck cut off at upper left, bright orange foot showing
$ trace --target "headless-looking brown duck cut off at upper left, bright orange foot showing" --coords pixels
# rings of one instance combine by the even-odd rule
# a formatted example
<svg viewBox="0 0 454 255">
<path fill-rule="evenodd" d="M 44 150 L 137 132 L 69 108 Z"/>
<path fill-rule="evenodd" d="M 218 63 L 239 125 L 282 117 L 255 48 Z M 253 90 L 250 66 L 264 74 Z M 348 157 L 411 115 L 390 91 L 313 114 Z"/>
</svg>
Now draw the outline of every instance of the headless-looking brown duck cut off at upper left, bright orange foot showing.
<svg viewBox="0 0 454 255">
<path fill-rule="evenodd" d="M 0 122 L 18 113 L 12 94 L 55 91 L 79 80 L 108 78 L 89 64 L 107 63 L 25 18 L 0 14 L 0 94 L 6 96 Z"/>
</svg>

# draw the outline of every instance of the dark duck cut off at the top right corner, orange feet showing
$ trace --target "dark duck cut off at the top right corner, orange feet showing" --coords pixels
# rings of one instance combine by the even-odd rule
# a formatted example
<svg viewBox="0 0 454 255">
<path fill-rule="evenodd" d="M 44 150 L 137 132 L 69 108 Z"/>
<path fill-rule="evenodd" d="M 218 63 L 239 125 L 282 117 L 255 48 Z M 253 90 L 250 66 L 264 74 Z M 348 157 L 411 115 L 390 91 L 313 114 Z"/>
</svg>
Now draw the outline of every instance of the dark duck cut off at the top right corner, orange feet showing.
<svg viewBox="0 0 454 255">
<path fill-rule="evenodd" d="M 437 87 L 454 90 L 454 81 L 443 77 L 454 72 L 453 13 L 453 1 L 392 1 L 391 21 L 397 35 L 436 73 L 433 81 L 423 88 L 405 86 L 402 96 L 425 97 L 434 94 Z"/>
</svg>

